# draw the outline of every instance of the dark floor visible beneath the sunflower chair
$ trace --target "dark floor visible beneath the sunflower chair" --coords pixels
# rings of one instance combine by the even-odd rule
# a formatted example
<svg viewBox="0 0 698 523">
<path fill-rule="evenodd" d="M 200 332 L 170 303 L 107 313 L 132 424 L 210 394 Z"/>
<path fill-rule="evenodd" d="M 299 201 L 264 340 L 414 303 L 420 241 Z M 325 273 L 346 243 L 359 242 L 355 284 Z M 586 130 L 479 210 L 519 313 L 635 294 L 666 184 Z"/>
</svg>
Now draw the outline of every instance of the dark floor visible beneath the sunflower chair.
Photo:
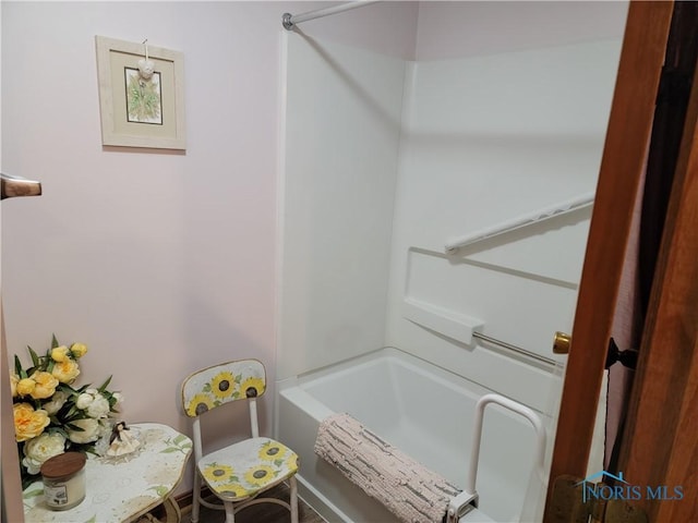
<svg viewBox="0 0 698 523">
<path fill-rule="evenodd" d="M 279 485 L 269 490 L 269 496 L 288 500 L 288 487 Z M 182 509 L 182 523 L 189 523 L 191 507 Z M 300 523 L 325 523 L 313 509 L 305 504 L 300 498 L 298 500 L 298 519 Z M 201 508 L 198 515 L 200 523 L 224 523 L 226 513 L 222 510 L 212 510 Z M 291 516 L 284 507 L 276 503 L 260 503 L 241 510 L 236 514 L 236 523 L 289 523 Z"/>
</svg>

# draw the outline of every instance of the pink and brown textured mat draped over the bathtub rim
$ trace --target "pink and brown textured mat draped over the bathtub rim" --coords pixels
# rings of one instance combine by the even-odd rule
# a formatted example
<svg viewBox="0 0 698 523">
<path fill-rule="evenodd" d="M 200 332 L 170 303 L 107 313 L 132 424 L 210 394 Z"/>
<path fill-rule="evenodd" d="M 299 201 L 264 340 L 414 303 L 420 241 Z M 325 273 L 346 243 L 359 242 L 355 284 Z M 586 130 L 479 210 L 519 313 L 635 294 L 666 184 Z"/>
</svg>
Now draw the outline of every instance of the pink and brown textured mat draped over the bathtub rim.
<svg viewBox="0 0 698 523">
<path fill-rule="evenodd" d="M 406 523 L 441 523 L 460 492 L 348 414 L 321 423 L 315 453 Z"/>
</svg>

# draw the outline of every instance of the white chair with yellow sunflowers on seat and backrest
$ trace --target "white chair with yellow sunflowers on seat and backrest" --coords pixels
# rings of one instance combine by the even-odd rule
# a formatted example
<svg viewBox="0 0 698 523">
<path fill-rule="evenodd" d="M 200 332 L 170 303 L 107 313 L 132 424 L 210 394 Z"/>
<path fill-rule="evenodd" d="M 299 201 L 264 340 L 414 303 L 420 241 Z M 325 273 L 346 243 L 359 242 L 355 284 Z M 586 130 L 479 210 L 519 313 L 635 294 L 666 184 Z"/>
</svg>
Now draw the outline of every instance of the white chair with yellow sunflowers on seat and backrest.
<svg viewBox="0 0 698 523">
<path fill-rule="evenodd" d="M 291 522 L 298 523 L 298 455 L 270 438 L 260 437 L 256 399 L 266 390 L 266 372 L 257 360 L 238 360 L 197 370 L 182 384 L 182 408 L 193 418 L 194 488 L 192 523 L 198 521 L 200 506 L 226 511 L 226 523 L 234 523 L 234 514 L 255 503 L 270 502 L 286 507 Z M 250 406 L 251 437 L 220 450 L 204 453 L 201 417 L 214 409 L 244 400 Z M 221 503 L 201 496 L 203 483 Z M 263 498 L 261 495 L 288 481 L 290 499 Z"/>
</svg>

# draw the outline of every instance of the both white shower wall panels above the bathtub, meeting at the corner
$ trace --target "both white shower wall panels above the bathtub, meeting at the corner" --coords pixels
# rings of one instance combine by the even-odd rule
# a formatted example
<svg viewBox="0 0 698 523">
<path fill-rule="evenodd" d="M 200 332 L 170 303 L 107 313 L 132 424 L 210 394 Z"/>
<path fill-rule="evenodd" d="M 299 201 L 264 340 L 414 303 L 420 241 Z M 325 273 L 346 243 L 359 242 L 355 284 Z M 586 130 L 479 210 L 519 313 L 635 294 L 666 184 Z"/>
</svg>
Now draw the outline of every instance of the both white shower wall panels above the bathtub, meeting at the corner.
<svg viewBox="0 0 698 523">
<path fill-rule="evenodd" d="M 279 379 L 389 344 L 550 411 L 554 376 L 405 319 L 406 297 L 551 356 L 590 212 L 446 241 L 592 192 L 619 39 L 409 62 L 285 35 Z"/>
</svg>

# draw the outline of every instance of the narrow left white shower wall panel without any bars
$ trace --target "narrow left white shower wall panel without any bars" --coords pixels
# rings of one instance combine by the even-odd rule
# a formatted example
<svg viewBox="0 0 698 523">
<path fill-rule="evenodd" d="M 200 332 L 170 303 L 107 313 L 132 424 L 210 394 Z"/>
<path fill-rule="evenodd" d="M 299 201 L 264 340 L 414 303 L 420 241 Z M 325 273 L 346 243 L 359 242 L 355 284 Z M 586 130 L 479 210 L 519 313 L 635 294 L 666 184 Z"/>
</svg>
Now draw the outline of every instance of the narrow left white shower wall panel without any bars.
<svg viewBox="0 0 698 523">
<path fill-rule="evenodd" d="M 278 378 L 383 345 L 405 61 L 289 34 Z"/>
</svg>

